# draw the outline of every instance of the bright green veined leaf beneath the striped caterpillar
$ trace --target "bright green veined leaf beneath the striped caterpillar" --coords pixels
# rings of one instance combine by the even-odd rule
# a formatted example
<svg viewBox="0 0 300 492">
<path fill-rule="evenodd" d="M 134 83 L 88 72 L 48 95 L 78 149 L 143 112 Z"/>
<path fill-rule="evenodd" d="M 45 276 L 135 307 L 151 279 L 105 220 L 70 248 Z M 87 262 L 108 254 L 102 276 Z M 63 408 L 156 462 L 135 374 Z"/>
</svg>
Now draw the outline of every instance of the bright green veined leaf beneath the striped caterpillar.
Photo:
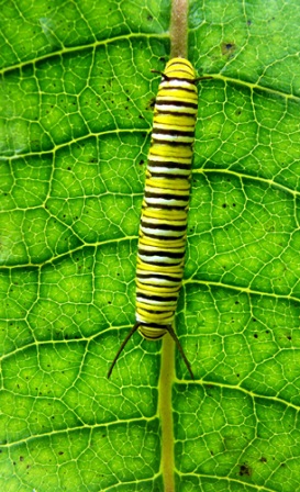
<svg viewBox="0 0 300 492">
<path fill-rule="evenodd" d="M 107 379 L 170 5 L 0 0 L 1 490 L 163 492 L 168 449 L 180 492 L 300 491 L 300 7 L 226 3 L 189 12 L 193 382 L 137 334 Z"/>
</svg>

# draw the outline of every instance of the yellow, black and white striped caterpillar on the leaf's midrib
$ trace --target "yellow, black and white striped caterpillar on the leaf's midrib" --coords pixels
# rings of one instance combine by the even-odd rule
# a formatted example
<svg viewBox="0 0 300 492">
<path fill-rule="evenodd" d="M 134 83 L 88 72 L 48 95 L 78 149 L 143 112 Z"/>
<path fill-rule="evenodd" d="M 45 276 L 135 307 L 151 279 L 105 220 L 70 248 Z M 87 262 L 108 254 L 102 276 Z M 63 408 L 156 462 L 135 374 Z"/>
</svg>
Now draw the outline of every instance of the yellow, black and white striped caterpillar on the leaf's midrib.
<svg viewBox="0 0 300 492">
<path fill-rule="evenodd" d="M 138 233 L 136 323 L 118 350 L 108 378 L 127 340 L 138 329 L 149 340 L 169 332 L 193 379 L 173 325 L 185 265 L 198 110 L 196 81 L 195 69 L 185 58 L 170 59 L 162 74 Z"/>
</svg>

